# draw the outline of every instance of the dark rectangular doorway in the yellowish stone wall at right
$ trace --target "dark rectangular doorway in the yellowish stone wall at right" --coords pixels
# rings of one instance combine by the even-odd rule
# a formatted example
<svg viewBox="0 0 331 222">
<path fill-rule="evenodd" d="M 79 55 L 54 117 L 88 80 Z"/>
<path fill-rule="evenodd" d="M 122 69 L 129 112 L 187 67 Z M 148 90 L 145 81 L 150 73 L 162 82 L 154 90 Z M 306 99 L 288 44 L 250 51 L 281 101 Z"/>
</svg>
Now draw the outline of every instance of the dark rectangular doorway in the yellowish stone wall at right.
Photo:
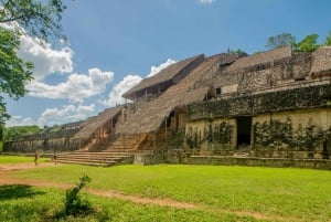
<svg viewBox="0 0 331 222">
<path fill-rule="evenodd" d="M 250 147 L 252 117 L 237 118 L 237 148 Z"/>
</svg>

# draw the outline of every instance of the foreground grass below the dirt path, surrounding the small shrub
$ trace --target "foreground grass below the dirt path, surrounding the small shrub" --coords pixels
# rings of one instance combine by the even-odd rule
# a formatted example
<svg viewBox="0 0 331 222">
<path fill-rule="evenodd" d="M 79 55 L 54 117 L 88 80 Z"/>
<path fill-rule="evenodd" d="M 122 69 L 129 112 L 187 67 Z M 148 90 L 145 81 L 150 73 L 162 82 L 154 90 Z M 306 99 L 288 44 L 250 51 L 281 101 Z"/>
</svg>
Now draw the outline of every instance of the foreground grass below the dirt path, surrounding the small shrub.
<svg viewBox="0 0 331 222">
<path fill-rule="evenodd" d="M 0 187 L 1 221 L 261 221 L 249 216 L 220 214 L 203 210 L 182 210 L 148 204 L 135 204 L 108 198 L 88 195 L 96 213 L 87 216 L 55 218 L 63 209 L 64 191 L 56 189 L 36 189 L 29 186 Z M 3 197 L 3 193 L 8 193 Z M 86 194 L 85 194 L 86 195 Z"/>
</svg>

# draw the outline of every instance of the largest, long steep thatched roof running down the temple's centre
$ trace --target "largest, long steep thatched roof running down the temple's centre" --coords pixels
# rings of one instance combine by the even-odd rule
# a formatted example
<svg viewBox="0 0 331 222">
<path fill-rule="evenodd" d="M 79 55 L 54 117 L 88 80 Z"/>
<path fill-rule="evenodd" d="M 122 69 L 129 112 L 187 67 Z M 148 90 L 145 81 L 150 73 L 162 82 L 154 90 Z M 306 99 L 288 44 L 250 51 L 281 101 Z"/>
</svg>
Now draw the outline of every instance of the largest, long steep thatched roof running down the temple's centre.
<svg viewBox="0 0 331 222">
<path fill-rule="evenodd" d="M 196 83 L 202 78 L 212 77 L 218 70 L 222 59 L 224 55 L 205 59 L 185 78 L 168 88 L 160 97 L 146 102 L 135 114 L 128 115 L 126 124 L 116 133 L 124 135 L 156 133 L 173 109 L 203 101 L 210 86 Z"/>
</svg>

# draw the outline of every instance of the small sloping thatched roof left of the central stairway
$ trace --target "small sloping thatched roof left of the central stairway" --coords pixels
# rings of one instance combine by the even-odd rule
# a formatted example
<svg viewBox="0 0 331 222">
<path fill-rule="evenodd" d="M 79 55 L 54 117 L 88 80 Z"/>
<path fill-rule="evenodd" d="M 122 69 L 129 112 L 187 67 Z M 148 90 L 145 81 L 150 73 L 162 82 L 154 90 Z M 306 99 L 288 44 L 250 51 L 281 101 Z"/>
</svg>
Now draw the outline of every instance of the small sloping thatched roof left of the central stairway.
<svg viewBox="0 0 331 222">
<path fill-rule="evenodd" d="M 88 139 L 97 129 L 116 116 L 124 106 L 107 108 L 98 116 L 90 117 L 82 124 L 82 129 L 75 134 L 73 139 Z"/>
</svg>

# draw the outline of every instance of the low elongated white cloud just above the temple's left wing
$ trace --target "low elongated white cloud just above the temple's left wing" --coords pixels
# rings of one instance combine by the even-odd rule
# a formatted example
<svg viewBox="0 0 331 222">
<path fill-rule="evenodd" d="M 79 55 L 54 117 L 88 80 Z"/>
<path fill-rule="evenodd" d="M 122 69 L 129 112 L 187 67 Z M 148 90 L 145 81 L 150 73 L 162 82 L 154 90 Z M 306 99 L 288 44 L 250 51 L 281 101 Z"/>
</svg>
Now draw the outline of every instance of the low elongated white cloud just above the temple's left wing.
<svg viewBox="0 0 331 222">
<path fill-rule="evenodd" d="M 46 108 L 38 119 L 38 125 L 43 127 L 84 120 L 95 112 L 95 105 L 67 105 L 62 108 Z"/>
</svg>

